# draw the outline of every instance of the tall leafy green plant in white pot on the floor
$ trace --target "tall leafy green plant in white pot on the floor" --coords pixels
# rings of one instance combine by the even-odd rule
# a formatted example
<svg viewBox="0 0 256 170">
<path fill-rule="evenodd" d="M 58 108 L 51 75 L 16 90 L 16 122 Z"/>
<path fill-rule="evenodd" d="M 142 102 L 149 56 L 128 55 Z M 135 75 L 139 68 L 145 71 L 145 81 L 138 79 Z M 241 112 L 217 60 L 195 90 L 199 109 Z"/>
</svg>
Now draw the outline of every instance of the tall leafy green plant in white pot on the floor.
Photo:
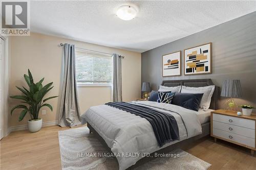
<svg viewBox="0 0 256 170">
<path fill-rule="evenodd" d="M 20 91 L 22 91 L 23 95 L 12 95 L 10 98 L 22 100 L 22 105 L 17 105 L 12 108 L 11 115 L 15 109 L 23 109 L 20 114 L 18 121 L 22 121 L 27 113 L 30 114 L 30 119 L 28 120 L 28 129 L 30 132 L 37 132 L 42 127 L 42 119 L 38 117 L 39 111 L 42 107 L 49 107 L 52 111 L 52 106 L 50 104 L 45 103 L 49 99 L 56 98 L 57 96 L 51 96 L 43 100 L 44 96 L 53 88 L 51 85 L 53 82 L 48 83 L 45 86 L 42 86 L 42 81 L 45 78 L 42 78 L 39 82 L 34 83 L 32 74 L 28 69 L 28 75 L 24 75 L 24 78 L 29 86 L 29 88 L 17 87 Z"/>
</svg>

